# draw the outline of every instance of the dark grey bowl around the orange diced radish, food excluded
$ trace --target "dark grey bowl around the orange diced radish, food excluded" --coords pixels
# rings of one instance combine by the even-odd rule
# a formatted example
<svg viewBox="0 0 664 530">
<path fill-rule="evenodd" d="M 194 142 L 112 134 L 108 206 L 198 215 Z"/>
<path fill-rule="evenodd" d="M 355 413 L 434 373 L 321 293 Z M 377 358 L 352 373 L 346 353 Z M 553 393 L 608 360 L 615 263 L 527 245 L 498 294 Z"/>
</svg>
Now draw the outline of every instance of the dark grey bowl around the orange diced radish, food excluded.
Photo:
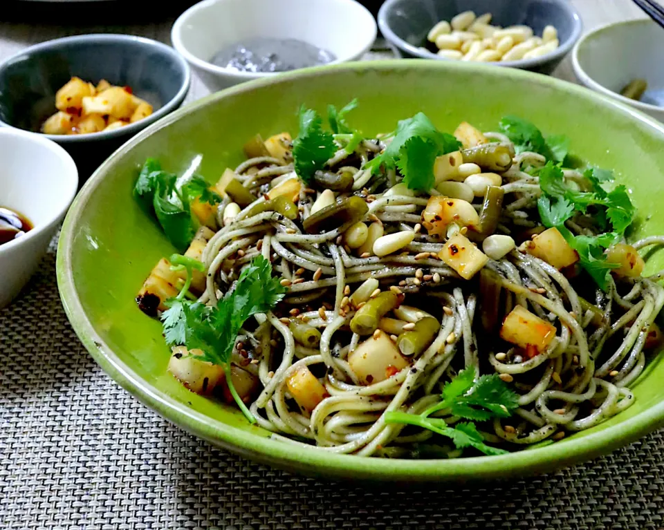
<svg viewBox="0 0 664 530">
<path fill-rule="evenodd" d="M 140 122 L 107 133 L 48 135 L 39 131 L 56 111 L 55 93 L 73 76 L 131 86 L 154 106 Z M 30 46 L 0 64 L 0 126 L 33 131 L 62 145 L 83 182 L 138 131 L 181 106 L 191 81 L 187 61 L 173 48 L 131 35 L 79 35 Z"/>
</svg>

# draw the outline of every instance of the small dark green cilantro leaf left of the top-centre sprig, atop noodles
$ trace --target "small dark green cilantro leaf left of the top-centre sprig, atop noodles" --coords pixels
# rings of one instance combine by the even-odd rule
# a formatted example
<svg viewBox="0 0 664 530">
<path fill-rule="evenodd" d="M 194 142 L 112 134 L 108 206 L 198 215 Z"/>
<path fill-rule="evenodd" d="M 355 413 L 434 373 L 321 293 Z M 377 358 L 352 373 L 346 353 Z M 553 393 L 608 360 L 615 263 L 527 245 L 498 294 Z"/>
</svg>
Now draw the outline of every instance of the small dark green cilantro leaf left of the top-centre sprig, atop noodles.
<svg viewBox="0 0 664 530">
<path fill-rule="evenodd" d="M 299 135 L 293 140 L 293 164 L 297 176 L 307 184 L 337 150 L 332 134 L 324 131 L 322 124 L 316 111 L 304 105 L 300 108 Z"/>
</svg>

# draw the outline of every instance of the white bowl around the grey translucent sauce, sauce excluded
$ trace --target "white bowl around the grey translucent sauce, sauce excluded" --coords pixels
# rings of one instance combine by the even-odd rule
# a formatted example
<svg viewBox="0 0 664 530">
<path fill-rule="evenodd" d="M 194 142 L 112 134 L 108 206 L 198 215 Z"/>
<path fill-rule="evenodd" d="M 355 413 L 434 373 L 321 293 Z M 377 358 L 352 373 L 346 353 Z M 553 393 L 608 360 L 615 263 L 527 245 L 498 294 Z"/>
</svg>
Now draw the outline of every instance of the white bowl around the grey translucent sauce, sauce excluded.
<svg viewBox="0 0 664 530">
<path fill-rule="evenodd" d="M 299 39 L 353 61 L 376 39 L 376 21 L 355 0 L 205 0 L 187 9 L 171 32 L 173 46 L 211 91 L 275 73 L 239 72 L 210 63 L 222 48 L 243 39 Z"/>
</svg>

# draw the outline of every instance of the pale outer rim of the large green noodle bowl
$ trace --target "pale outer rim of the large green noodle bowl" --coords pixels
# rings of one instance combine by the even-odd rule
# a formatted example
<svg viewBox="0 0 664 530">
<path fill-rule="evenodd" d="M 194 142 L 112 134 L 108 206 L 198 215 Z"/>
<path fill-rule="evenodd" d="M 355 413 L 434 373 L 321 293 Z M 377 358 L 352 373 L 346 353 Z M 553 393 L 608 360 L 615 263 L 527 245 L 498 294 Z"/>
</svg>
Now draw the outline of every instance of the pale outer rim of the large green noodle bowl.
<svg viewBox="0 0 664 530">
<path fill-rule="evenodd" d="M 290 471 L 335 478 L 351 477 L 353 480 L 380 480 L 383 481 L 383 484 L 389 484 L 384 482 L 385 479 L 400 482 L 445 480 L 463 482 L 535 475 L 608 453 L 633 442 L 660 426 L 664 426 L 663 400 L 636 416 L 625 419 L 624 422 L 609 426 L 597 433 L 585 435 L 579 439 L 564 439 L 555 444 L 509 453 L 508 455 L 450 460 L 399 460 L 338 455 L 313 446 L 311 448 L 296 447 L 286 442 L 256 435 L 248 430 L 229 426 L 219 420 L 211 419 L 204 414 L 190 410 L 185 404 L 169 397 L 165 392 L 151 388 L 151 385 L 131 370 L 127 364 L 123 363 L 95 332 L 76 292 L 71 267 L 71 252 L 77 232 L 77 220 L 82 215 L 86 203 L 93 195 L 97 184 L 111 171 L 113 163 L 131 150 L 133 146 L 145 140 L 149 135 L 156 133 L 156 131 L 176 122 L 184 115 L 216 100 L 252 91 L 261 86 L 287 83 L 293 81 L 293 79 L 306 79 L 321 73 L 398 70 L 405 74 L 407 70 L 421 72 L 436 68 L 441 70 L 463 69 L 477 73 L 477 75 L 508 77 L 517 82 L 550 86 L 556 90 L 578 95 L 593 103 L 599 102 L 602 106 L 613 107 L 616 111 L 631 116 L 636 122 L 649 126 L 653 133 L 658 133 L 664 141 L 664 124 L 656 122 L 656 120 L 634 110 L 634 108 L 620 104 L 582 86 L 524 70 L 494 68 L 476 64 L 457 64 L 445 61 L 395 59 L 306 68 L 274 78 L 257 79 L 203 97 L 201 100 L 163 117 L 113 153 L 86 182 L 64 220 L 57 248 L 57 284 L 60 296 L 75 332 L 104 371 L 120 386 L 174 424 L 203 439 L 207 439 L 217 446 Z"/>
</svg>

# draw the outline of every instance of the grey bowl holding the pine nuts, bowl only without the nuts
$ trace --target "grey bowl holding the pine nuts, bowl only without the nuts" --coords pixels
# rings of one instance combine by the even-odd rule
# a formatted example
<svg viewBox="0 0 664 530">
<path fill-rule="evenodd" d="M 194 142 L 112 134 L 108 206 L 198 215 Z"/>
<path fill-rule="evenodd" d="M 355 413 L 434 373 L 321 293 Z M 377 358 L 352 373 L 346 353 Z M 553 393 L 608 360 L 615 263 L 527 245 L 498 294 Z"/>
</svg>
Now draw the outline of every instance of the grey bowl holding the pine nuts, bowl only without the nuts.
<svg viewBox="0 0 664 530">
<path fill-rule="evenodd" d="M 582 23 L 568 0 L 387 0 L 378 11 L 378 28 L 403 57 L 443 59 L 419 49 L 427 46 L 427 33 L 436 22 L 449 21 L 460 12 L 472 10 L 477 15 L 490 12 L 498 26 L 526 24 L 542 35 L 551 24 L 558 31 L 560 46 L 552 53 L 535 59 L 490 63 L 551 73 L 581 35 Z"/>
</svg>

